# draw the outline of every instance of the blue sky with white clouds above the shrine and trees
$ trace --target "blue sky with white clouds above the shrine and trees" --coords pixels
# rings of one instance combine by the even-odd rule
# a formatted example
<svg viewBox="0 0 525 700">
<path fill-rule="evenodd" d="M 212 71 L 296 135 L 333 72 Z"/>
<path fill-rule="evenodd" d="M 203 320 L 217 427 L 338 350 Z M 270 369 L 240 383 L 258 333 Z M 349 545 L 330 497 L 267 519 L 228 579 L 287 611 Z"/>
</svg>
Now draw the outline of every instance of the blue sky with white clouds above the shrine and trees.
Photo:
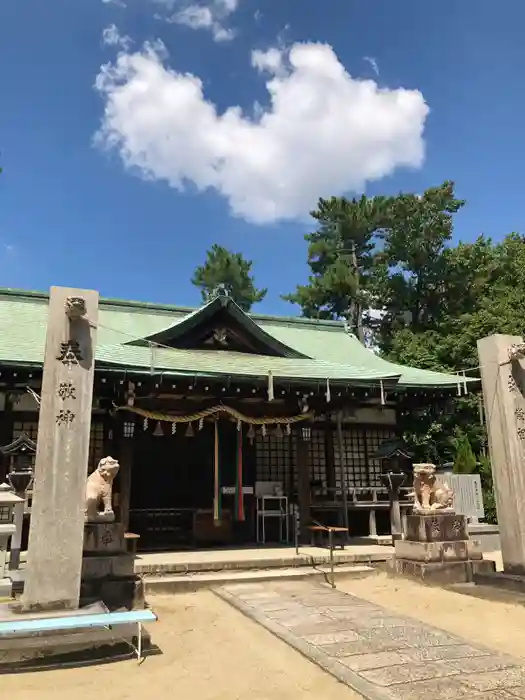
<svg viewBox="0 0 525 700">
<path fill-rule="evenodd" d="M 0 284 L 194 305 L 217 242 L 294 313 L 309 206 L 352 188 L 453 179 L 458 238 L 525 232 L 524 24 L 523 0 L 4 0 Z"/>
</svg>

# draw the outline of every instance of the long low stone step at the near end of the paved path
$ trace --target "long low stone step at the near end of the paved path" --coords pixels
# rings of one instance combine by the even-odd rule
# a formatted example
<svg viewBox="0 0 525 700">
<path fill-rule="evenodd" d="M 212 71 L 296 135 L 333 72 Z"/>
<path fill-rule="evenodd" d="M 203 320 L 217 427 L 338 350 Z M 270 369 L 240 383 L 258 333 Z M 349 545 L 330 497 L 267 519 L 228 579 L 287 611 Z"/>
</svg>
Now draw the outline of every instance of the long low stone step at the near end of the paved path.
<svg viewBox="0 0 525 700">
<path fill-rule="evenodd" d="M 364 564 L 342 564 L 334 568 L 335 582 L 341 578 L 363 578 L 374 576 L 378 569 Z M 264 583 L 265 581 L 300 581 L 304 579 L 327 579 L 330 568 L 300 566 L 281 569 L 227 570 L 187 573 L 168 576 L 145 576 L 146 595 L 151 593 L 182 593 L 211 588 L 229 583 Z"/>
</svg>

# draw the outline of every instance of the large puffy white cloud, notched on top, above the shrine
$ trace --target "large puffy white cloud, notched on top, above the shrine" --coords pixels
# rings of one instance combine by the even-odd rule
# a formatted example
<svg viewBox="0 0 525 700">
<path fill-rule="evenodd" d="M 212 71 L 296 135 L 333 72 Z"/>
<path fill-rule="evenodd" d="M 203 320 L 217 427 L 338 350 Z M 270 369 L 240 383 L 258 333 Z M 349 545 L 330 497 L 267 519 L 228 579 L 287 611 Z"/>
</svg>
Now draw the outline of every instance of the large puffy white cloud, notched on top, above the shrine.
<svg viewBox="0 0 525 700">
<path fill-rule="evenodd" d="M 352 78 L 326 44 L 294 44 L 280 62 L 254 52 L 256 66 L 274 66 L 269 104 L 254 116 L 219 113 L 202 81 L 168 68 L 166 54 L 160 42 L 120 53 L 96 81 L 105 103 L 96 143 L 144 178 L 214 189 L 235 215 L 266 223 L 423 163 L 422 94 Z"/>
</svg>

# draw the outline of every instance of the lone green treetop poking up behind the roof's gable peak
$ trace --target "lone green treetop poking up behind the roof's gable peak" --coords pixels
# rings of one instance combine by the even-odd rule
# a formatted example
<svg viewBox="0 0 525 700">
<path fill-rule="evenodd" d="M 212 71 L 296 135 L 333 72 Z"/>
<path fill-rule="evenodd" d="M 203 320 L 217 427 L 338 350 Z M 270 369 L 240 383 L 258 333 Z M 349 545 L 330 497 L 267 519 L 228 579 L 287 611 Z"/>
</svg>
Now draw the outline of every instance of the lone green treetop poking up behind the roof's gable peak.
<svg viewBox="0 0 525 700">
<path fill-rule="evenodd" d="M 232 253 L 214 244 L 206 253 L 206 262 L 195 270 L 191 281 L 200 287 L 204 302 L 222 285 L 241 309 L 249 311 L 253 304 L 264 299 L 268 291 L 255 286 L 250 275 L 252 264 L 241 253 Z"/>
</svg>

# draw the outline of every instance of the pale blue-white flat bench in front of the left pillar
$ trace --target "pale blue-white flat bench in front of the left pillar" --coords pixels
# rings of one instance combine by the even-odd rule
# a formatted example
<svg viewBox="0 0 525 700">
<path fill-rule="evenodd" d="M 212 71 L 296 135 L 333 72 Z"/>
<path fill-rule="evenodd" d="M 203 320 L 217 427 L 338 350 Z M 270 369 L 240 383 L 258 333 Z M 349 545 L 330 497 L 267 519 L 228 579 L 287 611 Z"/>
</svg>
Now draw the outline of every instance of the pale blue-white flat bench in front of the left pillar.
<svg viewBox="0 0 525 700">
<path fill-rule="evenodd" d="M 107 629 L 119 625 L 137 625 L 137 646 L 127 641 L 137 655 L 139 663 L 142 661 L 142 624 L 155 622 L 157 616 L 152 610 L 125 610 L 124 612 L 103 612 L 94 614 L 75 614 L 61 617 L 33 617 L 0 621 L 0 637 L 9 635 L 31 635 L 40 632 L 72 632 L 81 629 Z"/>
</svg>

